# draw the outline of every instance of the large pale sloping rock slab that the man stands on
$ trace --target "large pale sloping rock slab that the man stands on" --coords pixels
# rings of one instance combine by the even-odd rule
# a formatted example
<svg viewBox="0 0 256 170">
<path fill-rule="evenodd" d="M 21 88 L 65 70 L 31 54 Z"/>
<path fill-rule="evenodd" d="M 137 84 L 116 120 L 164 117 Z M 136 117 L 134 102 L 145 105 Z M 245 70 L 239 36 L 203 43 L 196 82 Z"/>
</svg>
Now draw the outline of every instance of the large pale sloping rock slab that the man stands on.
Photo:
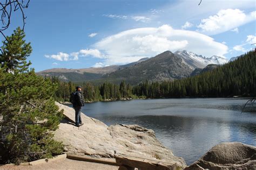
<svg viewBox="0 0 256 170">
<path fill-rule="evenodd" d="M 125 154 L 154 160 L 176 163 L 184 169 L 183 158 L 173 155 L 156 138 L 154 131 L 138 125 L 107 126 L 95 118 L 81 114 L 84 125 L 75 126 L 75 110 L 57 103 L 64 110 L 65 118 L 54 132 L 55 139 L 63 141 L 65 151 L 91 157 L 114 158 L 114 154 Z"/>
</svg>

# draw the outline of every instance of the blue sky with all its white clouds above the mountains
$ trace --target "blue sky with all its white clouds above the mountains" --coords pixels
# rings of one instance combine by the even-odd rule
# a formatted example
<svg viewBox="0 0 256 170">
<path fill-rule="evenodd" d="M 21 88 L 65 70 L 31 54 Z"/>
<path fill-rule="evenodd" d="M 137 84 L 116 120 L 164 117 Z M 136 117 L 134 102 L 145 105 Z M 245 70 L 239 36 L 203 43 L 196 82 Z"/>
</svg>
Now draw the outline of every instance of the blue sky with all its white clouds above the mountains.
<svg viewBox="0 0 256 170">
<path fill-rule="evenodd" d="M 167 50 L 230 59 L 255 47 L 255 0 L 37 0 L 24 10 L 28 60 L 51 68 L 124 65 Z M 12 15 L 4 33 L 22 26 Z M 3 38 L 3 37 L 1 37 Z M 252 45 L 253 44 L 253 45 Z"/>
</svg>

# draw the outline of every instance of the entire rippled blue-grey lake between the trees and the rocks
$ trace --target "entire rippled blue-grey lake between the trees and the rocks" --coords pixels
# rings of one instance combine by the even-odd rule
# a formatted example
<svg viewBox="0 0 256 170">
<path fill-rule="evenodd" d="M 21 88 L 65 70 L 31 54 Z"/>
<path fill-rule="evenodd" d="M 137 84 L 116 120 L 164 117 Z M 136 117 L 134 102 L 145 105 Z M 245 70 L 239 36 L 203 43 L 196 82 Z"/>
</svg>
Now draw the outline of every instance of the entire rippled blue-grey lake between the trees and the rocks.
<svg viewBox="0 0 256 170">
<path fill-rule="evenodd" d="M 85 104 L 82 112 L 106 125 L 138 124 L 152 129 L 164 146 L 190 165 L 225 141 L 256 146 L 256 112 L 241 114 L 246 102 L 241 98 L 95 102 Z"/>
</svg>

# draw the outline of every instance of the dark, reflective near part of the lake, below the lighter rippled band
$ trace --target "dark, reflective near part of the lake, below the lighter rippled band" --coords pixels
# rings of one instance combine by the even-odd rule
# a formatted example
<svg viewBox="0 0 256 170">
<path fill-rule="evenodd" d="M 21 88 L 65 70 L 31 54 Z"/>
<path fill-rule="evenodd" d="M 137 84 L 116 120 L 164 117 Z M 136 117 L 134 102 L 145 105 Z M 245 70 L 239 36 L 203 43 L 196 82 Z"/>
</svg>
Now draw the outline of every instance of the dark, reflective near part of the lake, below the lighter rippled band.
<svg viewBox="0 0 256 170">
<path fill-rule="evenodd" d="M 240 141 L 256 146 L 256 124 L 215 121 L 207 118 L 178 116 L 100 116 L 107 125 L 138 124 L 153 129 L 156 137 L 175 155 L 191 164 L 214 145 L 225 141 Z"/>
</svg>

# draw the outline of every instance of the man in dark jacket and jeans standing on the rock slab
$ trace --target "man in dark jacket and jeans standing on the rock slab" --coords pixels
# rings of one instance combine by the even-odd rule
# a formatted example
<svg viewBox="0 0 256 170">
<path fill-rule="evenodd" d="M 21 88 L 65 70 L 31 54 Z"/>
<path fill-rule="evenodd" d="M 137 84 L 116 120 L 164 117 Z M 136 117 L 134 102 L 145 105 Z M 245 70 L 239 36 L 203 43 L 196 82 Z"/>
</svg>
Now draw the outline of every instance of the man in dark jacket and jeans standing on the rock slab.
<svg viewBox="0 0 256 170">
<path fill-rule="evenodd" d="M 82 126 L 82 119 L 81 119 L 81 110 L 84 106 L 84 95 L 82 93 L 82 87 L 77 86 L 76 87 L 76 94 L 75 94 L 75 102 L 73 103 L 73 108 L 76 111 L 76 126 Z"/>
</svg>

